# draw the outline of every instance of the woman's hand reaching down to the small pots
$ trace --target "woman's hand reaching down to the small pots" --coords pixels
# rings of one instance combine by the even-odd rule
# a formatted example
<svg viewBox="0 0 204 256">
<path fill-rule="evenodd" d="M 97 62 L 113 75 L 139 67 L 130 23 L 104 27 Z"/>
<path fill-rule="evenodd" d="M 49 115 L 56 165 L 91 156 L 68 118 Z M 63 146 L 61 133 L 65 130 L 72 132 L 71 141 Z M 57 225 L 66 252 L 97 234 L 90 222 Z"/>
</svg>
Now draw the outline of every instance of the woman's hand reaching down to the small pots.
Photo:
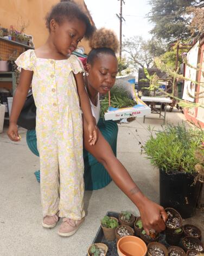
<svg viewBox="0 0 204 256">
<path fill-rule="evenodd" d="M 145 198 L 141 208 L 139 209 L 143 228 L 146 234 L 149 231 L 155 230 L 157 233 L 165 229 L 165 222 L 167 221 L 167 213 L 164 208 L 148 198 Z"/>
</svg>

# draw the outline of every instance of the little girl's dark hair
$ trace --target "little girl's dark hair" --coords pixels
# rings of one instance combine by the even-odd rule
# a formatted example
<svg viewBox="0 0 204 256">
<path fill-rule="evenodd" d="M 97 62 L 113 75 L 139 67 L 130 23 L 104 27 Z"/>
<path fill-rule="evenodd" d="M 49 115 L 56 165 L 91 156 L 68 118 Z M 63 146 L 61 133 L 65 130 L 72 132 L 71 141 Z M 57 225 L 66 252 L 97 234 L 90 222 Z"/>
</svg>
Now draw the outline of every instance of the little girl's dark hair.
<svg viewBox="0 0 204 256">
<path fill-rule="evenodd" d="M 91 25 L 90 19 L 84 11 L 73 0 L 61 0 L 60 3 L 54 5 L 46 16 L 46 27 L 50 30 L 50 21 L 54 19 L 59 24 L 65 19 L 72 20 L 78 19 L 85 23 L 86 32 L 85 38 L 89 39 L 94 31 L 94 26 Z"/>
</svg>

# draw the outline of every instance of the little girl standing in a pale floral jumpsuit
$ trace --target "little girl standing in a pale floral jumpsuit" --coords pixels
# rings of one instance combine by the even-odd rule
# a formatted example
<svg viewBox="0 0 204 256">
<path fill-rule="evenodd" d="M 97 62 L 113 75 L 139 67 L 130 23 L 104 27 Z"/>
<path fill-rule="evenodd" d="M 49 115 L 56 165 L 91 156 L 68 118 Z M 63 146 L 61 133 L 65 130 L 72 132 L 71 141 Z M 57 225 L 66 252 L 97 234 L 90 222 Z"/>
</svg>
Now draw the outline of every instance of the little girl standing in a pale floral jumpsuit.
<svg viewBox="0 0 204 256">
<path fill-rule="evenodd" d="M 59 216 L 65 217 L 59 235 L 70 236 L 85 216 L 81 109 L 88 125 L 88 142 L 93 145 L 97 140 L 95 119 L 84 87 L 84 69 L 71 53 L 84 36 L 91 36 L 93 28 L 86 14 L 71 2 L 61 2 L 52 8 L 47 15 L 47 28 L 46 44 L 22 53 L 16 60 L 21 77 L 12 103 L 8 136 L 12 141 L 20 141 L 16 123 L 32 82 L 37 107 L 42 225 L 53 228 Z"/>
</svg>

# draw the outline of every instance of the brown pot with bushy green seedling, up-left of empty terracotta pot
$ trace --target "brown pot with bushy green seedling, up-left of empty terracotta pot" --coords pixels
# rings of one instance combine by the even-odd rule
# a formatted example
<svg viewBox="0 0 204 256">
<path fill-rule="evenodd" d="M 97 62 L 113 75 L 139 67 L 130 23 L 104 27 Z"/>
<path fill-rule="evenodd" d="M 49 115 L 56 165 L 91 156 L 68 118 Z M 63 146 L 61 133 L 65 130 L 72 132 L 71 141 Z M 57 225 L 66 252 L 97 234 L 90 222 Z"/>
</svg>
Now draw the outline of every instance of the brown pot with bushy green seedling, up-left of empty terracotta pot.
<svg viewBox="0 0 204 256">
<path fill-rule="evenodd" d="M 104 236 L 106 240 L 116 239 L 116 228 L 118 227 L 118 220 L 114 217 L 105 216 L 101 220 L 101 227 L 104 231 Z"/>
</svg>

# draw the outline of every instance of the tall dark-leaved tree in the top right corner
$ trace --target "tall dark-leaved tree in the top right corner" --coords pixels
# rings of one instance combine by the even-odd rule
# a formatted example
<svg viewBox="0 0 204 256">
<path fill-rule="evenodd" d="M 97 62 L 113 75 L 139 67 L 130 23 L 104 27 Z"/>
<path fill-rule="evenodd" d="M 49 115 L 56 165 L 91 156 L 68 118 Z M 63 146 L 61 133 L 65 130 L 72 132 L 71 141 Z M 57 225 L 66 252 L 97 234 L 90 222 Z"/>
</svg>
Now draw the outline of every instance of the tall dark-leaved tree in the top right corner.
<svg viewBox="0 0 204 256">
<path fill-rule="evenodd" d="M 177 39 L 187 39 L 190 36 L 189 24 L 192 19 L 187 14 L 187 7 L 194 7 L 201 0 L 151 0 L 149 21 L 154 23 L 151 34 L 157 39 L 173 42 Z"/>
</svg>

